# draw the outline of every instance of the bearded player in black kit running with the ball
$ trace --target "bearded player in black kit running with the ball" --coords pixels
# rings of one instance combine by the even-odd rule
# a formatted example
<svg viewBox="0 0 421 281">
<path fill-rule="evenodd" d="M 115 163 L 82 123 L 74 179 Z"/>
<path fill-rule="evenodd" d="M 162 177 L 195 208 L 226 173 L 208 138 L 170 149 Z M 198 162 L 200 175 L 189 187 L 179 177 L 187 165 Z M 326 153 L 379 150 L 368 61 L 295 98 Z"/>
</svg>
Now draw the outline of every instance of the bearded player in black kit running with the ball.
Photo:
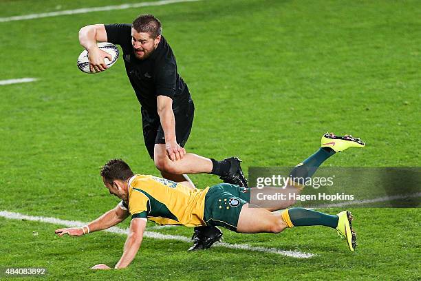
<svg viewBox="0 0 421 281">
<path fill-rule="evenodd" d="M 144 143 L 162 176 L 195 187 L 186 174 L 208 173 L 225 183 L 247 187 L 236 157 L 224 160 L 186 153 L 194 104 L 188 87 L 177 72 L 175 56 L 161 34 L 161 23 L 151 14 L 141 14 L 133 23 L 95 24 L 80 29 L 80 45 L 88 51 L 92 72 L 107 69 L 111 56 L 97 42 L 120 45 L 129 81 L 141 105 Z M 123 202 L 127 205 L 128 202 Z M 193 246 L 206 249 L 222 238 L 216 227 L 195 227 Z"/>
</svg>

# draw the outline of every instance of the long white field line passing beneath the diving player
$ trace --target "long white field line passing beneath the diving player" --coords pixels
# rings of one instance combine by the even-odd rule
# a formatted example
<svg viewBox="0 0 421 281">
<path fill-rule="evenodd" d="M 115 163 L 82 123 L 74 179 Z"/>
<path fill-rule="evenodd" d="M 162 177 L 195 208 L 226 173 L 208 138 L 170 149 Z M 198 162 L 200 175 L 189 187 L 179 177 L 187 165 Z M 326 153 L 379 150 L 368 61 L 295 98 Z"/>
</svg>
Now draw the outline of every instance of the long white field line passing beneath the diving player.
<svg viewBox="0 0 421 281">
<path fill-rule="evenodd" d="M 33 220 L 36 222 L 47 222 L 54 225 L 63 225 L 65 227 L 82 227 L 87 225 L 86 222 L 79 222 L 77 220 L 60 220 L 58 218 L 48 218 L 42 216 L 27 216 L 19 213 L 10 211 L 0 211 L 0 217 L 8 218 L 12 220 Z M 105 231 L 117 234 L 127 235 L 127 229 L 121 229 L 120 227 L 111 227 Z M 182 242 L 191 242 L 191 239 L 185 236 L 162 234 L 155 231 L 144 231 L 144 237 L 160 239 L 160 240 L 178 240 Z M 301 251 L 284 251 L 281 249 L 266 248 L 266 247 L 253 247 L 248 244 L 230 244 L 225 242 L 217 242 L 214 247 L 226 247 L 230 249 L 242 249 L 248 251 L 261 251 L 263 253 L 276 253 L 278 255 L 287 256 L 290 258 L 312 258 L 314 254 L 303 253 Z"/>
</svg>

